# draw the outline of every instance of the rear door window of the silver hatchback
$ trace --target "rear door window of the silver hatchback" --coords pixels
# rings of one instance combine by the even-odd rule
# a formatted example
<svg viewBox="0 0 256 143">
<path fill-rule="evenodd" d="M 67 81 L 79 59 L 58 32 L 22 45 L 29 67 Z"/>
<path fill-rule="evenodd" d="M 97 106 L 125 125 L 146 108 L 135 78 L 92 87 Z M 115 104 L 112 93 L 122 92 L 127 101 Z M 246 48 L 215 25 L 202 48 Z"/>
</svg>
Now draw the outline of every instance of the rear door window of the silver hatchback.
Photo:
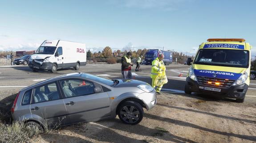
<svg viewBox="0 0 256 143">
<path fill-rule="evenodd" d="M 50 83 L 34 88 L 33 102 L 39 103 L 60 99 L 56 83 Z"/>
</svg>

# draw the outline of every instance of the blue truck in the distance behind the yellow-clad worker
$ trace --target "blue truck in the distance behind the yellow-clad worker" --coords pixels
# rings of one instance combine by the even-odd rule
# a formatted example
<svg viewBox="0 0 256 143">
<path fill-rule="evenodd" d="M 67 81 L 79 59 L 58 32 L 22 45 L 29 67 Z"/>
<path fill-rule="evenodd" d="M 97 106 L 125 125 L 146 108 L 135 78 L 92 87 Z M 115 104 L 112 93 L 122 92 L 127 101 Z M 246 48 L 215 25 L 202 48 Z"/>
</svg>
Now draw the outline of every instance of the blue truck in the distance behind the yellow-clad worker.
<svg viewBox="0 0 256 143">
<path fill-rule="evenodd" d="M 159 56 L 159 54 L 164 55 L 163 63 L 165 65 L 170 65 L 172 63 L 173 52 L 160 49 L 150 49 L 145 54 L 146 65 L 152 65 L 152 62 Z"/>
</svg>

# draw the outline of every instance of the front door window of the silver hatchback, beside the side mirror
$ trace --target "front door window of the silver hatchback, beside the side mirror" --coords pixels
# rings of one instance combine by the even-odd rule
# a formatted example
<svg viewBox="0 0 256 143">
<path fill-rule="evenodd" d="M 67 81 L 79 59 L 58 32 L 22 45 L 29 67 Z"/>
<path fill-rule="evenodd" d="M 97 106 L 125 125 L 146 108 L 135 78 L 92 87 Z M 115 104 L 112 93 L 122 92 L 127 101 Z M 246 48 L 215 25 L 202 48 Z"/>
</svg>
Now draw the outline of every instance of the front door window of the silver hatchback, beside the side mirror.
<svg viewBox="0 0 256 143">
<path fill-rule="evenodd" d="M 77 97 L 93 94 L 95 87 L 100 87 L 102 89 L 101 85 L 79 79 L 62 80 L 60 83 L 65 97 Z"/>
</svg>

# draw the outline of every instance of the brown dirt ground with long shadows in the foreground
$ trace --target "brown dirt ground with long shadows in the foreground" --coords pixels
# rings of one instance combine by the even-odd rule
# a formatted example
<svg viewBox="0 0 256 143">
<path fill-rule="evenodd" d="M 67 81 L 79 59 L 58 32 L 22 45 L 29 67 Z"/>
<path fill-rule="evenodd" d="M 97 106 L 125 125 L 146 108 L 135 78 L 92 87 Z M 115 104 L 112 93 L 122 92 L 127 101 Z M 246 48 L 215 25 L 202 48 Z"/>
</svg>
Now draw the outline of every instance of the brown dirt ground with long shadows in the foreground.
<svg viewBox="0 0 256 143">
<path fill-rule="evenodd" d="M 126 125 L 116 117 L 66 126 L 37 135 L 33 143 L 253 143 L 256 104 L 163 93 L 140 124 Z"/>
</svg>

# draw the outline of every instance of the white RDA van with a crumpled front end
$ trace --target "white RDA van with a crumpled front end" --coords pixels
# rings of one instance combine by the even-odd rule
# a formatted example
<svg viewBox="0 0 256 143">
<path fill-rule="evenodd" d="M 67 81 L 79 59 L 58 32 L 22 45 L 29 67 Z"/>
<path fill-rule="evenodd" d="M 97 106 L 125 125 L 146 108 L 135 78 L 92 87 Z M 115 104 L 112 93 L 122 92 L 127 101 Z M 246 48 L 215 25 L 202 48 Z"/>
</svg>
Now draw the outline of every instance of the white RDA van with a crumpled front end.
<svg viewBox="0 0 256 143">
<path fill-rule="evenodd" d="M 86 65 L 86 47 L 83 43 L 64 40 L 45 40 L 29 59 L 29 68 L 33 71 L 73 67 L 78 70 Z"/>
</svg>

